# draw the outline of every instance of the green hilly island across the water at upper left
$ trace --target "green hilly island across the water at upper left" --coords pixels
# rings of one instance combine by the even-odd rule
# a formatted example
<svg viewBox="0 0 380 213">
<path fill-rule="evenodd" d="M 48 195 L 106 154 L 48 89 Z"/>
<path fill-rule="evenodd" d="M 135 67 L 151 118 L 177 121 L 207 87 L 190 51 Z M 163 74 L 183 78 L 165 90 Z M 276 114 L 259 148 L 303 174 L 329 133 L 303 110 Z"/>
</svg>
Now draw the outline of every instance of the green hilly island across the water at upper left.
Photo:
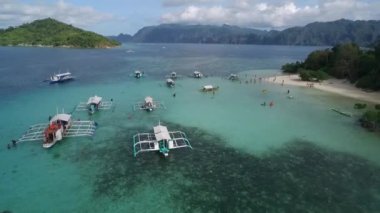
<svg viewBox="0 0 380 213">
<path fill-rule="evenodd" d="M 0 30 L 0 45 L 106 48 L 120 43 L 51 18 Z"/>
</svg>

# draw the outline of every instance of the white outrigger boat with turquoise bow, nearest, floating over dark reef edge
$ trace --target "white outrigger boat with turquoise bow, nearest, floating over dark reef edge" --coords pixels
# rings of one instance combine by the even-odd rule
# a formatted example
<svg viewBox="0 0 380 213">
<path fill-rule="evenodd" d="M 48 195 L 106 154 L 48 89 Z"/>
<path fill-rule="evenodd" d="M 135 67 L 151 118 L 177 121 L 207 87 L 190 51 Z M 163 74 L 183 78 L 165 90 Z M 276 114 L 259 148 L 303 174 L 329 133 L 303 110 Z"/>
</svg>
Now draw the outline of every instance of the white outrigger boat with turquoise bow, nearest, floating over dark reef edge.
<svg viewBox="0 0 380 213">
<path fill-rule="evenodd" d="M 160 123 L 153 127 L 153 133 L 138 133 L 133 136 L 133 155 L 136 157 L 140 152 L 159 151 L 167 157 L 170 149 L 192 149 L 184 132 L 168 131 L 166 126 Z"/>
</svg>

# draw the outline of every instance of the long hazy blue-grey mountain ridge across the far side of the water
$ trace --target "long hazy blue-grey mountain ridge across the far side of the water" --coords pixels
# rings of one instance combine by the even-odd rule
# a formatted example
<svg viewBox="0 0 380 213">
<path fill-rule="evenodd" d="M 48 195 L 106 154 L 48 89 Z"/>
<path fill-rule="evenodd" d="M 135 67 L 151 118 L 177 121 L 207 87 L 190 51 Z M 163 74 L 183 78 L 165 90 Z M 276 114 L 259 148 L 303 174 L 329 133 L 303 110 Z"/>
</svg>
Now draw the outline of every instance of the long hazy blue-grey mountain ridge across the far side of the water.
<svg viewBox="0 0 380 213">
<path fill-rule="evenodd" d="M 118 41 L 118 36 L 112 37 Z M 380 21 L 314 22 L 304 27 L 283 31 L 266 31 L 231 25 L 161 24 L 140 29 L 129 37 L 130 42 L 141 43 L 223 43 L 333 46 L 355 42 L 369 46 L 380 38 Z"/>
</svg>

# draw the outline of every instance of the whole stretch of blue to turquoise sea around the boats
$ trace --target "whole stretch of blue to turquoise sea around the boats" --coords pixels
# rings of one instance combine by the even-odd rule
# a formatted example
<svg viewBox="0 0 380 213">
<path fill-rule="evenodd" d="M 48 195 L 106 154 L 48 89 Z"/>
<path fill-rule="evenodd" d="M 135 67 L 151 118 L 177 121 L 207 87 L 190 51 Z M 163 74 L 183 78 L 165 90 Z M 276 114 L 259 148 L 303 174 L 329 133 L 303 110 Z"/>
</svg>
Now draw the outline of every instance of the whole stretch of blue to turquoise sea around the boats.
<svg viewBox="0 0 380 213">
<path fill-rule="evenodd" d="M 254 76 L 277 74 L 313 47 L 144 44 L 109 50 L 0 48 L 0 211 L 12 212 L 378 212 L 380 136 L 357 123 L 355 100 Z M 128 51 L 133 50 L 133 52 Z M 69 69 L 73 82 L 42 82 Z M 130 74 L 140 69 L 143 79 Z M 199 69 L 209 77 L 186 77 Z M 184 77 L 167 88 L 165 75 Z M 237 72 L 242 82 L 224 77 Z M 248 83 L 246 83 L 246 81 Z M 206 84 L 215 93 L 201 93 Z M 287 99 L 287 90 L 295 97 Z M 266 90 L 266 93 L 262 91 Z M 173 98 L 172 94 L 176 93 Z M 92 138 L 6 149 L 57 108 L 97 94 L 114 110 Z M 133 111 L 152 96 L 166 110 Z M 274 102 L 273 107 L 261 103 Z M 343 117 L 330 108 L 352 112 Z M 132 135 L 159 121 L 187 133 L 193 150 L 132 154 Z"/>
</svg>

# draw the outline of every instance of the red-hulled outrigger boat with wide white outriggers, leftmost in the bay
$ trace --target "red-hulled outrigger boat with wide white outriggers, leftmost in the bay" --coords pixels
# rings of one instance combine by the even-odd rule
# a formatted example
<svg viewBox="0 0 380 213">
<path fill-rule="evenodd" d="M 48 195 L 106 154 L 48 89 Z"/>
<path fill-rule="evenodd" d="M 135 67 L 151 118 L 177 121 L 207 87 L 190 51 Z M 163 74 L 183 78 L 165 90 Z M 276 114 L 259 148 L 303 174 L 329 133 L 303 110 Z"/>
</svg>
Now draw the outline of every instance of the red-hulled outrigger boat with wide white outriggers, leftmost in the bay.
<svg viewBox="0 0 380 213">
<path fill-rule="evenodd" d="M 73 121 L 70 114 L 56 114 L 48 124 L 35 124 L 16 141 L 43 140 L 42 147 L 50 148 L 65 137 L 92 136 L 95 133 L 94 121 Z"/>
</svg>

